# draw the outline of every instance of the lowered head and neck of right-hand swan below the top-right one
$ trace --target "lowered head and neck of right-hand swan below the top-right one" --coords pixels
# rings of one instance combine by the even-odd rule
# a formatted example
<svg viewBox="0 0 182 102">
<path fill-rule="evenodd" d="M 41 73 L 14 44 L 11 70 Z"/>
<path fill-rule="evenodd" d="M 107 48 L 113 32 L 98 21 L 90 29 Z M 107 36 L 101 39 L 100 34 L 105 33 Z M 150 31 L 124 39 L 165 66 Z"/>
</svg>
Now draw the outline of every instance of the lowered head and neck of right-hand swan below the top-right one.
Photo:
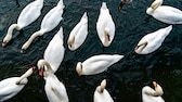
<svg viewBox="0 0 182 102">
<path fill-rule="evenodd" d="M 138 43 L 138 46 L 134 48 L 134 51 L 136 52 L 136 53 L 141 53 L 143 50 L 144 50 L 144 48 L 147 46 L 147 41 L 140 41 L 139 43 Z"/>
</svg>

